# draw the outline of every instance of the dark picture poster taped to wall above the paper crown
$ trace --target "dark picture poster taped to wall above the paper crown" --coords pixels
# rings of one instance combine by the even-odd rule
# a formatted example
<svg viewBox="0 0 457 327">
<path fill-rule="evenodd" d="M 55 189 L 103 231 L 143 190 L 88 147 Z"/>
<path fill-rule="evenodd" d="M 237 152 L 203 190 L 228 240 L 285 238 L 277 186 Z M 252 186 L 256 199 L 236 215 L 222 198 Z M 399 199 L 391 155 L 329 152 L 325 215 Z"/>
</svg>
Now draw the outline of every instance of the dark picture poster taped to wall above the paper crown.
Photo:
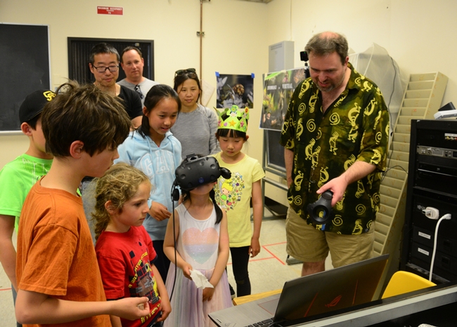
<svg viewBox="0 0 457 327">
<path fill-rule="evenodd" d="M 229 75 L 216 73 L 217 108 L 232 105 L 252 108 L 254 103 L 254 74 Z"/>
</svg>

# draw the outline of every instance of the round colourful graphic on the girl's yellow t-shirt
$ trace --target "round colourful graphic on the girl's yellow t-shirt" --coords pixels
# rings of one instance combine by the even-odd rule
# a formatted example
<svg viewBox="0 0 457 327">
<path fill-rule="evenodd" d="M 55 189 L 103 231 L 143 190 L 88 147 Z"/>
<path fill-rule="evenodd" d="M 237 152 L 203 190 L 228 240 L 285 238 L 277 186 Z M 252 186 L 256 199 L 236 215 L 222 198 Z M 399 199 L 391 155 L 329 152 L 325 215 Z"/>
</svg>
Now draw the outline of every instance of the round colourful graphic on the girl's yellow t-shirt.
<svg viewBox="0 0 457 327">
<path fill-rule="evenodd" d="M 240 173 L 232 173 L 231 178 L 227 180 L 219 178 L 217 187 L 219 187 L 219 192 L 216 192 L 217 204 L 226 211 L 230 211 L 241 200 L 245 181 L 243 180 L 243 175 L 240 175 Z"/>
</svg>

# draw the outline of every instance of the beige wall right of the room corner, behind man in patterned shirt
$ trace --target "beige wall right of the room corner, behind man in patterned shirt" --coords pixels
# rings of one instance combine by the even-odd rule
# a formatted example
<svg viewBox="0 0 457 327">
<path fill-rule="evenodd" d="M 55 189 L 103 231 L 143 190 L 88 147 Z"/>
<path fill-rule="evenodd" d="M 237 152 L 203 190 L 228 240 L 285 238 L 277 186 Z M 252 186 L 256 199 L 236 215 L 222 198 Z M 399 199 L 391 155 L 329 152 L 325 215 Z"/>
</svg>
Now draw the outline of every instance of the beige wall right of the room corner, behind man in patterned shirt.
<svg viewBox="0 0 457 327">
<path fill-rule="evenodd" d="M 317 32 L 345 34 L 355 53 L 374 42 L 406 76 L 437 71 L 448 76 L 442 105 L 457 105 L 456 13 L 454 0 L 274 0 L 266 16 L 267 44 L 295 41 L 295 67 L 300 67 L 300 51 Z M 267 185 L 266 195 L 273 193 L 277 188 Z"/>
</svg>

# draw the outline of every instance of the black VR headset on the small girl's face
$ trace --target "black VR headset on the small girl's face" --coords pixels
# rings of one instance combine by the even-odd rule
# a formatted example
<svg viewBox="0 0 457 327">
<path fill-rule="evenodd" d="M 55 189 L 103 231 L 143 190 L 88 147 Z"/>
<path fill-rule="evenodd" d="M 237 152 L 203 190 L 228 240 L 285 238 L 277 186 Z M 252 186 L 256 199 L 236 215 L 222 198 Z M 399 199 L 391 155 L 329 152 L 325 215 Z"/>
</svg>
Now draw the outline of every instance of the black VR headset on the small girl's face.
<svg viewBox="0 0 457 327">
<path fill-rule="evenodd" d="M 231 177 L 231 172 L 226 168 L 219 167 L 214 156 L 198 157 L 195 154 L 188 154 L 186 160 L 176 168 L 175 174 L 176 184 L 185 191 L 216 182 L 220 176 L 226 179 Z"/>
</svg>

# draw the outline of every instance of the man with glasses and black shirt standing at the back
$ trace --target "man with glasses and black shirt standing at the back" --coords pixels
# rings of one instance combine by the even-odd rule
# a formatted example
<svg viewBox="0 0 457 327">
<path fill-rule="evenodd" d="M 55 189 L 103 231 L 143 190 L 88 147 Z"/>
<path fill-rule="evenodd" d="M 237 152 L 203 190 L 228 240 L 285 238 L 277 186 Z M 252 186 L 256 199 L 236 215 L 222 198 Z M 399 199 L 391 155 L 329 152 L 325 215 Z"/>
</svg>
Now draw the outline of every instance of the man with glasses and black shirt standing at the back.
<svg viewBox="0 0 457 327">
<path fill-rule="evenodd" d="M 141 125 L 143 105 L 135 91 L 116 84 L 117 77 L 119 77 L 119 61 L 120 56 L 115 47 L 103 42 L 96 44 L 91 49 L 89 69 L 94 74 L 94 84 L 98 88 L 124 100 L 125 111 L 136 128 Z"/>
</svg>

